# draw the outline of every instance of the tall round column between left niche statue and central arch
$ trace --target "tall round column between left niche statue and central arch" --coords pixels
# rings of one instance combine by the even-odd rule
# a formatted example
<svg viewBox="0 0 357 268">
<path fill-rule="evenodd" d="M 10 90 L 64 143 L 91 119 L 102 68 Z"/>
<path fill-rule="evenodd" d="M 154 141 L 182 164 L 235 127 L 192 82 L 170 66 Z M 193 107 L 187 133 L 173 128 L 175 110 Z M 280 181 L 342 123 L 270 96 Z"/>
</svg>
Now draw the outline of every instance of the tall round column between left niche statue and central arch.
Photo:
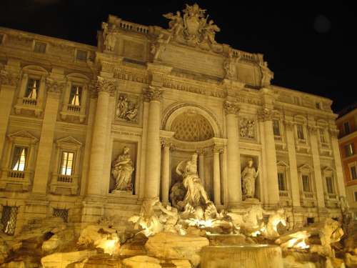
<svg viewBox="0 0 357 268">
<path fill-rule="evenodd" d="M 146 182 L 144 198 L 159 197 L 160 188 L 160 97 L 162 90 L 149 86 L 144 97 L 149 103 L 149 119 L 146 137 Z"/>
</svg>

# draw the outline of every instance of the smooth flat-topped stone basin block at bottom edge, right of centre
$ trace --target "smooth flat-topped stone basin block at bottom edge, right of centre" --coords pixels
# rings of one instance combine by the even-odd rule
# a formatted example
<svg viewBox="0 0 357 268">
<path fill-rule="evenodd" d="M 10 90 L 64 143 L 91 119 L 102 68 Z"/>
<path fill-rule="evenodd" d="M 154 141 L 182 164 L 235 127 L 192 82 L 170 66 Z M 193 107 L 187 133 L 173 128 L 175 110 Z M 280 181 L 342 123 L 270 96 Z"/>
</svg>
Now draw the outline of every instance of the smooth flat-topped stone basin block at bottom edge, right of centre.
<svg viewBox="0 0 357 268">
<path fill-rule="evenodd" d="M 269 244 L 220 245 L 201 249 L 201 268 L 283 268 L 281 248 Z"/>
</svg>

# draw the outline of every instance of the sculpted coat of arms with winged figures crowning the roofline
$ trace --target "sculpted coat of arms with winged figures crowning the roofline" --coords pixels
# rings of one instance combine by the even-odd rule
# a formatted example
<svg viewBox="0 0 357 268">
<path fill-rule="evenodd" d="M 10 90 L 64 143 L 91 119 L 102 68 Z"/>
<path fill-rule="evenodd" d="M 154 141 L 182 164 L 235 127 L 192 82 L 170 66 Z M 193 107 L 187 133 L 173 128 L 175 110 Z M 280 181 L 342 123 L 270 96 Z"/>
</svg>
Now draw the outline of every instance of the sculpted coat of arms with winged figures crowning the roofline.
<svg viewBox="0 0 357 268">
<path fill-rule="evenodd" d="M 180 11 L 176 14 L 168 13 L 163 16 L 170 19 L 169 28 L 171 36 L 174 39 L 182 39 L 189 45 L 208 44 L 213 46 L 217 44 L 215 40 L 216 32 L 221 31 L 213 20 L 208 21 L 208 15 L 205 16 L 206 9 L 200 9 L 198 4 L 183 9 L 183 16 Z"/>
</svg>

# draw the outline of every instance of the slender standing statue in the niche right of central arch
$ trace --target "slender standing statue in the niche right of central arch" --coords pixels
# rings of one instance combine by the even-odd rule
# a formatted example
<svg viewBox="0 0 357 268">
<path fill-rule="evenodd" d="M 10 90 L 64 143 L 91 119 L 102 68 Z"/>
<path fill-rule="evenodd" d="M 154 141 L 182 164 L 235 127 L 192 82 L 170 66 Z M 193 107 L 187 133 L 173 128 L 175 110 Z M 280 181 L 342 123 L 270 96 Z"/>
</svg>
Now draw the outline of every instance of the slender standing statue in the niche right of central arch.
<svg viewBox="0 0 357 268">
<path fill-rule="evenodd" d="M 254 198 L 258 174 L 259 172 L 253 167 L 253 159 L 249 158 L 241 174 L 243 199 Z"/>
</svg>

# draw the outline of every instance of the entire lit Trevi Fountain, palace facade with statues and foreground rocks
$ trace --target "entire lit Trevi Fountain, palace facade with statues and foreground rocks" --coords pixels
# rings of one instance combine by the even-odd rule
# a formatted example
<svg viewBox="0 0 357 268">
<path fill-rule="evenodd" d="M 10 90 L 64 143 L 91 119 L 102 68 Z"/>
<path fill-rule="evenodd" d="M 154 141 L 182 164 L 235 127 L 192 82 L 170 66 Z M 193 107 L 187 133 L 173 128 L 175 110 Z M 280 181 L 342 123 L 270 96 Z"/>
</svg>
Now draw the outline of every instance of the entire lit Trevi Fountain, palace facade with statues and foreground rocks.
<svg viewBox="0 0 357 268">
<path fill-rule="evenodd" d="M 357 267 L 331 101 L 197 4 L 164 17 L 110 15 L 98 47 L 0 29 L 0 267 Z M 17 61 L 33 39 L 51 73 Z"/>
</svg>

